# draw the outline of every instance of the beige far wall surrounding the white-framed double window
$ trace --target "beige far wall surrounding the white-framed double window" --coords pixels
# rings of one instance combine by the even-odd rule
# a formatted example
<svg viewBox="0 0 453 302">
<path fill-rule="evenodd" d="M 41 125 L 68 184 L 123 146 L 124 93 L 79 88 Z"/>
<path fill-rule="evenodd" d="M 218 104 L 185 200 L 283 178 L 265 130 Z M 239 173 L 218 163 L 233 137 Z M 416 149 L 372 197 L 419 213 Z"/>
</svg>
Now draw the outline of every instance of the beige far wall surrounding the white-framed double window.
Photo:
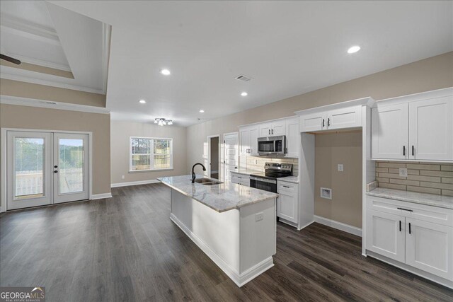
<svg viewBox="0 0 453 302">
<path fill-rule="evenodd" d="M 160 127 L 154 123 L 111 122 L 111 181 L 136 182 L 154 180 L 160 176 L 188 174 L 186 164 L 185 128 L 176 126 Z M 130 137 L 165 137 L 173 139 L 173 170 L 155 172 L 129 172 Z M 121 179 L 125 175 L 125 179 Z"/>
</svg>

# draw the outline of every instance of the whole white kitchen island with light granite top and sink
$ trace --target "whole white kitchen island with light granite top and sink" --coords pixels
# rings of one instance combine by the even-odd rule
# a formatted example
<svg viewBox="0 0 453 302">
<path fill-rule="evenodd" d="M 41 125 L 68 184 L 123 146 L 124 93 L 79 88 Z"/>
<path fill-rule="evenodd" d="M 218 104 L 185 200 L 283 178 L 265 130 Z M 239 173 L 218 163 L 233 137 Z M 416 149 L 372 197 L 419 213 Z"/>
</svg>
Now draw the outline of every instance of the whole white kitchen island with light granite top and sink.
<svg viewBox="0 0 453 302">
<path fill-rule="evenodd" d="M 278 194 L 232 182 L 191 183 L 191 175 L 158 180 L 171 187 L 170 219 L 237 286 L 273 267 Z"/>
</svg>

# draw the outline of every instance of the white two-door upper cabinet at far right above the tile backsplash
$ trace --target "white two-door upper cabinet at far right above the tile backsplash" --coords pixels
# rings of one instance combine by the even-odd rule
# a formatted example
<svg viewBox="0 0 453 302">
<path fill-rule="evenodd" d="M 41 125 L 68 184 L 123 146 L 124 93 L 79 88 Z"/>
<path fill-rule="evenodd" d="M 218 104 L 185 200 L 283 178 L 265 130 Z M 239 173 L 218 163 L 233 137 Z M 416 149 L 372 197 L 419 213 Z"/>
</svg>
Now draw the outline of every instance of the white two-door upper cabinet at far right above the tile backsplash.
<svg viewBox="0 0 453 302">
<path fill-rule="evenodd" d="M 378 102 L 372 108 L 372 158 L 453 161 L 452 92 Z"/>
</svg>

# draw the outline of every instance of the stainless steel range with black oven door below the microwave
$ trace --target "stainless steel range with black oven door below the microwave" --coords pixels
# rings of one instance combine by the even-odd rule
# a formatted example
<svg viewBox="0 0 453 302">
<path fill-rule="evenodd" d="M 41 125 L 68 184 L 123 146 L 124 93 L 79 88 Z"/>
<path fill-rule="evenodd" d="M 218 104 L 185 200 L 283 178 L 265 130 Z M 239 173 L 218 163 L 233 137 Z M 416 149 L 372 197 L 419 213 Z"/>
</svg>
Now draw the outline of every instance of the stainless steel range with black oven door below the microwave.
<svg viewBox="0 0 453 302">
<path fill-rule="evenodd" d="M 265 163 L 264 173 L 250 175 L 250 186 L 277 193 L 277 178 L 292 175 L 292 163 Z"/>
</svg>

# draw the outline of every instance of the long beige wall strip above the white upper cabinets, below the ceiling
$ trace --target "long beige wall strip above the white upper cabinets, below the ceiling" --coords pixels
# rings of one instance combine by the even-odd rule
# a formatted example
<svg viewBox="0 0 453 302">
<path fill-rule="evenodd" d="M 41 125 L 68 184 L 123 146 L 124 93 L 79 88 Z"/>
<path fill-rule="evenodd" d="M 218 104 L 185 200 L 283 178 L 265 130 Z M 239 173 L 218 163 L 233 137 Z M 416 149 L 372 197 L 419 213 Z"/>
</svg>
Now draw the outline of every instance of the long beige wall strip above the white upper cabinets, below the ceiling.
<svg viewBox="0 0 453 302">
<path fill-rule="evenodd" d="M 453 52 L 448 52 L 436 57 L 398 66 L 394 69 L 381 71 L 377 74 L 338 83 L 310 93 L 296 95 L 292 98 L 239 112 L 234 115 L 195 124 L 187 128 L 188 159 L 186 169 L 188 171 L 193 163 L 202 161 L 203 141 L 206 140 L 207 135 L 221 134 L 222 137 L 223 133 L 238 131 L 237 127 L 241 124 L 272 120 L 279 117 L 289 117 L 294 115 L 294 111 L 297 110 L 340 103 L 356 98 L 371 96 L 374 100 L 382 100 L 400 95 L 452 87 L 452 70 Z M 322 176 L 321 170 L 316 168 L 316 174 Z M 319 207 L 317 202 L 315 207 Z M 351 218 L 349 216 L 343 218 L 342 214 L 337 215 L 334 213 L 335 211 L 337 209 L 333 208 L 331 216 L 328 216 L 327 211 L 323 215 L 326 218 L 331 218 L 332 216 L 338 217 L 340 219 L 338 221 L 343 223 L 354 221 L 356 216 L 351 213 L 349 215 Z"/>
</svg>

